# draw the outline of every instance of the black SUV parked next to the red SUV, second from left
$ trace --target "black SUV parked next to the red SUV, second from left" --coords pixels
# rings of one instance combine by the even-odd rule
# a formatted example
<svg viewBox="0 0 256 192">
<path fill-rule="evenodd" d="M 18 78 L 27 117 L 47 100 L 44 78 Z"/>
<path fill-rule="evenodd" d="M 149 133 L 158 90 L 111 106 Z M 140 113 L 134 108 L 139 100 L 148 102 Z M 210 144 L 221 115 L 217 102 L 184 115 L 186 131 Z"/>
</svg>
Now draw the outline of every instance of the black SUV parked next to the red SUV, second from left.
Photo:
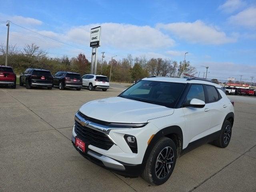
<svg viewBox="0 0 256 192">
<path fill-rule="evenodd" d="M 52 74 L 48 70 L 28 68 L 20 75 L 20 86 L 26 84 L 26 89 L 31 87 L 47 87 L 52 89 Z"/>
</svg>

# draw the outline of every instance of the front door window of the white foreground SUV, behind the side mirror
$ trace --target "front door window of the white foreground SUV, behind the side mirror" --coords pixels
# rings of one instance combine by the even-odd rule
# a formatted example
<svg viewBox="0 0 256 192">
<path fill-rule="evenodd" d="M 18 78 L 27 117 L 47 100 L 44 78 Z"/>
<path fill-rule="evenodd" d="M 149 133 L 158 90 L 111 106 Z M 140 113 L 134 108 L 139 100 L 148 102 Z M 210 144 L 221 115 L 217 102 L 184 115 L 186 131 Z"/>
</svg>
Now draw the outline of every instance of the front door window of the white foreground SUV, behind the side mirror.
<svg viewBox="0 0 256 192">
<path fill-rule="evenodd" d="M 192 99 L 199 99 L 205 102 L 204 87 L 202 85 L 191 85 L 184 103 L 190 103 Z"/>
</svg>

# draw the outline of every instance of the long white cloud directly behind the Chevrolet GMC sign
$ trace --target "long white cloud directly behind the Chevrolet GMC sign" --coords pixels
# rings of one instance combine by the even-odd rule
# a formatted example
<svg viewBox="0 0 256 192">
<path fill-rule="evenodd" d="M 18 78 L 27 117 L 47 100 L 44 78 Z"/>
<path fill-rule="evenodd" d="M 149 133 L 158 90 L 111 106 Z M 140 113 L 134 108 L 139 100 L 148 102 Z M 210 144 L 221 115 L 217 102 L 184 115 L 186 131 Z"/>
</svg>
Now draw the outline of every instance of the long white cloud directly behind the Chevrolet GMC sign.
<svg viewBox="0 0 256 192">
<path fill-rule="evenodd" d="M 66 39 L 79 44 L 88 45 L 90 40 L 90 28 L 95 26 L 102 26 L 102 46 L 130 50 L 174 46 L 174 40 L 156 28 L 118 23 L 78 26 L 70 29 L 65 34 Z"/>
</svg>

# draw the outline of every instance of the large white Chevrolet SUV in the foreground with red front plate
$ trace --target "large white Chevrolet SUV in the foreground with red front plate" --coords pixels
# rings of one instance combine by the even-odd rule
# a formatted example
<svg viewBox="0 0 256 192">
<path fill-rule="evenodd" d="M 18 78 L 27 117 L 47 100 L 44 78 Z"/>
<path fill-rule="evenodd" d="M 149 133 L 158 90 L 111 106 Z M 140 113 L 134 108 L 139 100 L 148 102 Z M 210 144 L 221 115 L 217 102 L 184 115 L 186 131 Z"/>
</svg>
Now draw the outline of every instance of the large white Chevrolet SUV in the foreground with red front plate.
<svg viewBox="0 0 256 192">
<path fill-rule="evenodd" d="M 208 142 L 228 146 L 233 105 L 206 80 L 144 78 L 117 97 L 84 104 L 72 143 L 96 164 L 160 185 L 187 151 Z"/>
</svg>

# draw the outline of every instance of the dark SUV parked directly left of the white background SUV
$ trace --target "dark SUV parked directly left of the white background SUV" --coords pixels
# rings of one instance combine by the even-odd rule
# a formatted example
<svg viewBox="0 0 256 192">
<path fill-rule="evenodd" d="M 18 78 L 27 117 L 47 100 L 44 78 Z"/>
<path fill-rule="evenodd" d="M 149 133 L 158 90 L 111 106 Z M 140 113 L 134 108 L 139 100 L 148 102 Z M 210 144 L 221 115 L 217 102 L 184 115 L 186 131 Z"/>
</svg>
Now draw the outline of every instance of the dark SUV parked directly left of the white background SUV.
<svg viewBox="0 0 256 192">
<path fill-rule="evenodd" d="M 52 86 L 58 86 L 60 90 L 64 88 L 76 88 L 80 91 L 82 88 L 82 78 L 79 73 L 59 71 L 53 76 Z"/>
</svg>

